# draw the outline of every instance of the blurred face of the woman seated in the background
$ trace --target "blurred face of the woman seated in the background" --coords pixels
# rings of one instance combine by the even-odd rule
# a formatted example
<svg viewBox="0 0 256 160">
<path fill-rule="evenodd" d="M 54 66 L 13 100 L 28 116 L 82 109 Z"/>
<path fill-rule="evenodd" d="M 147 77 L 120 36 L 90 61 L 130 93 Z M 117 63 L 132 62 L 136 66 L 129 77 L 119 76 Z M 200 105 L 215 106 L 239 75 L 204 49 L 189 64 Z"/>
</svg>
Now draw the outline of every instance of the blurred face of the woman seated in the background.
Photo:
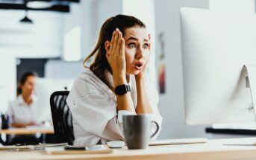
<svg viewBox="0 0 256 160">
<path fill-rule="evenodd" d="M 25 83 L 22 85 L 22 94 L 31 96 L 34 92 L 36 77 L 28 76 Z"/>
</svg>

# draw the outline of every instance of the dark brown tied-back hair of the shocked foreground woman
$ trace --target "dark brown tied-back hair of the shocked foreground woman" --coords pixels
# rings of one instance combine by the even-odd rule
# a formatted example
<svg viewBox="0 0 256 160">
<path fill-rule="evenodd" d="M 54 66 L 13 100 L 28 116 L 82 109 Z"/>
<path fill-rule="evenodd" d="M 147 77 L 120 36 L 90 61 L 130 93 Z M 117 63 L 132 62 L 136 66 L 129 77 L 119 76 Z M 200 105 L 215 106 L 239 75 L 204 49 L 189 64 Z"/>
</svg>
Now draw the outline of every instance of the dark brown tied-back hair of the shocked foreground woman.
<svg viewBox="0 0 256 160">
<path fill-rule="evenodd" d="M 104 77 L 104 71 L 107 69 L 112 73 L 112 69 L 110 68 L 109 63 L 107 62 L 106 50 L 104 48 L 104 42 L 111 41 L 112 33 L 119 28 L 119 31 L 122 32 L 122 35 L 125 36 L 125 29 L 131 28 L 134 26 L 138 26 L 140 28 L 146 28 L 146 25 L 140 21 L 140 19 L 135 18 L 134 16 L 125 16 L 125 15 L 117 15 L 110 17 L 107 19 L 99 32 L 99 38 L 96 43 L 93 51 L 84 59 L 84 67 L 88 60 L 95 55 L 93 62 L 90 65 L 90 70 L 96 74 L 99 79 L 101 79 L 104 83 L 107 83 Z"/>
</svg>

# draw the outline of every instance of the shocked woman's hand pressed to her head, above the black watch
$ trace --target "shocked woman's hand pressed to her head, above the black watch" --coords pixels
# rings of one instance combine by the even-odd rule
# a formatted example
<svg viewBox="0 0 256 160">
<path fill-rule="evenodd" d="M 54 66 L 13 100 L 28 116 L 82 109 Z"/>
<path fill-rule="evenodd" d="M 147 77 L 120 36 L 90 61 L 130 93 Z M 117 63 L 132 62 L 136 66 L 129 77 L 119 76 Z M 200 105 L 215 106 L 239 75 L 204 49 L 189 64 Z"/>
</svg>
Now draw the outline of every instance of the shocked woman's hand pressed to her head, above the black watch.
<svg viewBox="0 0 256 160">
<path fill-rule="evenodd" d="M 122 38 L 122 33 L 118 28 L 113 31 L 106 57 L 112 68 L 115 86 L 126 83 L 125 39 Z"/>
</svg>

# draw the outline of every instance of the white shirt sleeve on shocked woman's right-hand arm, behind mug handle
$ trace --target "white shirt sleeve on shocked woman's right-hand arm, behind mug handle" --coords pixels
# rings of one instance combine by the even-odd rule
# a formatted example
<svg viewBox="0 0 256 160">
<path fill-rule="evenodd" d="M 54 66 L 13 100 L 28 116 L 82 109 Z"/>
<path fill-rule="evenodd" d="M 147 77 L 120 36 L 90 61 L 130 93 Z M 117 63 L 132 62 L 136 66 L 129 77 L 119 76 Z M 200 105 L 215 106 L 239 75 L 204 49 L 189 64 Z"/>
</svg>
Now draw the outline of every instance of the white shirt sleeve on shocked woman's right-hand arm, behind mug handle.
<svg viewBox="0 0 256 160">
<path fill-rule="evenodd" d="M 160 133 L 160 130 L 162 128 L 162 117 L 158 111 L 157 108 L 157 104 L 158 104 L 158 92 L 156 89 L 156 86 L 154 86 L 154 84 L 150 83 L 149 78 L 147 78 L 148 81 L 146 81 L 146 86 L 147 86 L 147 94 L 149 96 L 149 103 L 153 109 L 153 114 L 151 114 L 151 120 L 154 121 L 157 124 L 152 123 L 152 135 L 154 134 L 154 132 L 156 132 L 156 134 L 152 137 L 152 140 L 155 140 L 157 138 L 157 136 Z M 158 130 L 157 130 L 157 125 L 158 125 Z"/>
</svg>

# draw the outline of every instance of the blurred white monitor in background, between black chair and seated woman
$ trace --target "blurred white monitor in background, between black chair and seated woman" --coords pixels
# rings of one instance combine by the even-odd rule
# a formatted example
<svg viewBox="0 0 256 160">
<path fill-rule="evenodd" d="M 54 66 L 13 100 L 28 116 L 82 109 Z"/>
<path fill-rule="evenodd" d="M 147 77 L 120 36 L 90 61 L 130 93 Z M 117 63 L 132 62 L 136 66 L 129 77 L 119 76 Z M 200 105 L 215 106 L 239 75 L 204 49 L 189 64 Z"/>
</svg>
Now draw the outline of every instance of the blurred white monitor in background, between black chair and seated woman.
<svg viewBox="0 0 256 160">
<path fill-rule="evenodd" d="M 55 91 L 72 88 L 73 79 L 69 78 L 37 78 L 35 95 L 37 96 L 37 121 L 51 121 L 50 96 Z"/>
</svg>

